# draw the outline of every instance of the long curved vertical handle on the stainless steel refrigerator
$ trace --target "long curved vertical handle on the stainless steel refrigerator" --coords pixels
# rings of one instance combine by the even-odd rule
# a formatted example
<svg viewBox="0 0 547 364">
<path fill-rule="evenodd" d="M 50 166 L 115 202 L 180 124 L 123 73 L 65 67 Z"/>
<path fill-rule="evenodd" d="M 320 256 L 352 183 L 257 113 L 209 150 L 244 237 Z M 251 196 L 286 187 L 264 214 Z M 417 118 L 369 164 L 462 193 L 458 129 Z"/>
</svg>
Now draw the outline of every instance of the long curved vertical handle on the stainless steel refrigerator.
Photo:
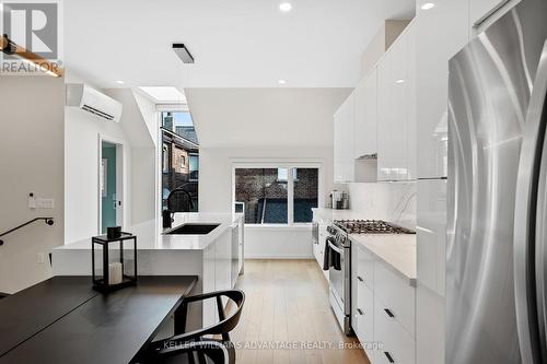
<svg viewBox="0 0 547 364">
<path fill-rule="evenodd" d="M 536 309 L 535 223 L 538 172 L 545 138 L 547 42 L 529 98 L 519 162 L 514 211 L 514 289 L 516 326 L 523 363 L 542 363 Z"/>
</svg>

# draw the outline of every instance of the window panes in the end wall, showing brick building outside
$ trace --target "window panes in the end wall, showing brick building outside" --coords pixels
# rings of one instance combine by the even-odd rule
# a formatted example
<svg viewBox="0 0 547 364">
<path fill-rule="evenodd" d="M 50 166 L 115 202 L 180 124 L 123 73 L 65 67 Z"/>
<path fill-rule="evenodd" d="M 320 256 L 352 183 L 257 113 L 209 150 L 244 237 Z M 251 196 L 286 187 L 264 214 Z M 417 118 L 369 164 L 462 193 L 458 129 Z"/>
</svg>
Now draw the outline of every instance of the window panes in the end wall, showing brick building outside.
<svg viewBox="0 0 547 364">
<path fill-rule="evenodd" d="M 318 176 L 317 167 L 235 167 L 234 211 L 245 213 L 246 224 L 310 223 Z"/>
</svg>

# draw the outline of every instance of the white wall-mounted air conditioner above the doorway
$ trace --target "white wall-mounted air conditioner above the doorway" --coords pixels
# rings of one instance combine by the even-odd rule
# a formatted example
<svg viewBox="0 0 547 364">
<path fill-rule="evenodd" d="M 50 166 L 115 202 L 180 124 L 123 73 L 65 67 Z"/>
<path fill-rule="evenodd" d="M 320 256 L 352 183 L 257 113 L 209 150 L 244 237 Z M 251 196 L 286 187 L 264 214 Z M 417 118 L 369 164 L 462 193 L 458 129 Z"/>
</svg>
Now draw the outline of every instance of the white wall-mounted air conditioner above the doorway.
<svg viewBox="0 0 547 364">
<path fill-rule="evenodd" d="M 123 105 L 84 83 L 67 84 L 67 106 L 75 106 L 103 119 L 118 122 Z"/>
</svg>

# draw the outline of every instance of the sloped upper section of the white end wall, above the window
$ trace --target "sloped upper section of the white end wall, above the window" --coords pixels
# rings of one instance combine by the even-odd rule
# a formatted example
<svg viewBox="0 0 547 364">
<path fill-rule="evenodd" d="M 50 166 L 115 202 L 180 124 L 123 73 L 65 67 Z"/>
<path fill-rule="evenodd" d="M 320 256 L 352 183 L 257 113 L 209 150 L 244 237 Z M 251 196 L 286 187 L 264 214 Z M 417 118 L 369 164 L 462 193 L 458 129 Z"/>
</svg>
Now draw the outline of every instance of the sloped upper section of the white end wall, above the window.
<svg viewBox="0 0 547 364">
<path fill-rule="evenodd" d="M 333 145 L 351 89 L 186 89 L 203 148 Z"/>
</svg>

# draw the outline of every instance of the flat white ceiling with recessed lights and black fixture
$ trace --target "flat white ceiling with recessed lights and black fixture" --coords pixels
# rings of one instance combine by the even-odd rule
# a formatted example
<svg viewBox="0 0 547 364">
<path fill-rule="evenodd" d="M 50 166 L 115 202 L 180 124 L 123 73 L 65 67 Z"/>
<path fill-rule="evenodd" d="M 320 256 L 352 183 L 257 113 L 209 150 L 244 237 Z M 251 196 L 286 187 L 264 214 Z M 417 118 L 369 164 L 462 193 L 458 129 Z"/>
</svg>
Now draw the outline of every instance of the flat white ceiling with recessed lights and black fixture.
<svg viewBox="0 0 547 364">
<path fill-rule="evenodd" d="M 415 0 L 65 0 L 63 59 L 101 87 L 354 86 L 385 19 Z M 196 59 L 171 49 L 184 43 Z M 117 84 L 121 80 L 124 85 Z"/>
</svg>

